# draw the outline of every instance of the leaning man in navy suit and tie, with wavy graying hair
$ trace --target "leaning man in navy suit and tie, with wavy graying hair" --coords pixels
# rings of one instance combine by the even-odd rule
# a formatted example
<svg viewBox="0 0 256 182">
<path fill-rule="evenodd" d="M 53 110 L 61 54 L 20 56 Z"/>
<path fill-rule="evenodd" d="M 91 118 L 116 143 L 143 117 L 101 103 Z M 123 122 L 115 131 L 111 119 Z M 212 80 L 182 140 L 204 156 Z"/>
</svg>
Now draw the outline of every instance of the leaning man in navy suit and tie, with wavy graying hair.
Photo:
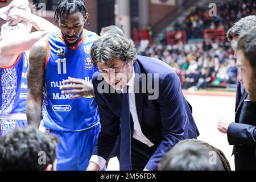
<svg viewBox="0 0 256 182">
<path fill-rule="evenodd" d="M 121 170 L 156 170 L 177 142 L 199 131 L 179 77 L 163 61 L 137 56 L 130 38 L 110 34 L 91 48 L 101 131 L 88 170 L 102 169 L 120 134 Z"/>
</svg>

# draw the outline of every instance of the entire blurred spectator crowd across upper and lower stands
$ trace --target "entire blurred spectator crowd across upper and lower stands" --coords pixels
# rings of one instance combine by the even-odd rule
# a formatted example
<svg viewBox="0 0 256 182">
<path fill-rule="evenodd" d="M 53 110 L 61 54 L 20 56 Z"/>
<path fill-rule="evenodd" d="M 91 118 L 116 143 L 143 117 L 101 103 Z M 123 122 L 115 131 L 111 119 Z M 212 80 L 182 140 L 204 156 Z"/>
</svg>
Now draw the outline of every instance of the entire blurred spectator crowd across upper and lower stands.
<svg viewBox="0 0 256 182">
<path fill-rule="evenodd" d="M 207 7 L 196 7 L 185 15 L 183 21 L 177 20 L 173 24 L 173 30 L 185 30 L 187 40 L 203 40 L 205 29 L 218 28 L 226 31 L 238 19 L 256 14 L 256 2 L 251 0 L 220 2 L 216 17 L 209 16 Z M 152 44 L 146 49 L 139 49 L 138 52 L 171 65 L 180 77 L 183 89 L 198 90 L 209 86 L 225 87 L 227 84 L 236 84 L 236 58 L 227 41 L 185 45 L 179 42 L 166 46 L 166 39 L 164 39 L 160 44 Z"/>
</svg>

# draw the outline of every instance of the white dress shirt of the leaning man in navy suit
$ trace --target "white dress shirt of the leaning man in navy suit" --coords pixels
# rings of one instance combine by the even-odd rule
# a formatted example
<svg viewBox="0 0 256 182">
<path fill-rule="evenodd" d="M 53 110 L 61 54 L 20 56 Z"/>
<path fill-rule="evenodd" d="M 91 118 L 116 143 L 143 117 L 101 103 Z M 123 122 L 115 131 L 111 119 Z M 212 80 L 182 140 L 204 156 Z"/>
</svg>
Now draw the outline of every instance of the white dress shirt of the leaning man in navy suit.
<svg viewBox="0 0 256 182">
<path fill-rule="evenodd" d="M 154 146 L 154 143 L 150 142 L 150 140 L 145 137 L 145 135 L 142 133 L 141 125 L 139 124 L 138 114 L 136 110 L 136 103 L 135 103 L 135 93 L 134 93 L 134 69 L 133 69 L 133 76 L 127 83 L 129 86 L 128 93 L 129 93 L 129 104 L 130 104 L 130 112 L 131 117 L 133 117 L 133 124 L 134 124 L 134 130 L 133 130 L 133 138 L 141 141 L 144 144 L 147 144 L 148 147 Z M 123 89 L 121 89 L 123 93 Z M 94 162 L 98 164 L 101 169 L 105 166 L 106 160 L 102 158 L 101 156 L 93 155 L 90 158 L 90 162 Z"/>
</svg>

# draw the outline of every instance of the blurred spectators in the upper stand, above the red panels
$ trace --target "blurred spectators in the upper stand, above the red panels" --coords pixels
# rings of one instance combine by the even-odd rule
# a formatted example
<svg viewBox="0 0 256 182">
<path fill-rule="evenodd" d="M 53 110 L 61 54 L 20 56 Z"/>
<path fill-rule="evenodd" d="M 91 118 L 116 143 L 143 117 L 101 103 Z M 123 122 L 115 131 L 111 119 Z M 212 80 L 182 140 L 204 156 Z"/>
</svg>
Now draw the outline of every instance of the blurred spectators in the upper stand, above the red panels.
<svg viewBox="0 0 256 182">
<path fill-rule="evenodd" d="M 216 16 L 209 16 L 208 6 L 196 7 L 182 22 L 174 23 L 174 30 L 185 30 L 188 39 L 203 38 L 203 30 L 232 27 L 236 20 L 256 14 L 256 2 L 239 0 L 217 4 Z"/>
</svg>

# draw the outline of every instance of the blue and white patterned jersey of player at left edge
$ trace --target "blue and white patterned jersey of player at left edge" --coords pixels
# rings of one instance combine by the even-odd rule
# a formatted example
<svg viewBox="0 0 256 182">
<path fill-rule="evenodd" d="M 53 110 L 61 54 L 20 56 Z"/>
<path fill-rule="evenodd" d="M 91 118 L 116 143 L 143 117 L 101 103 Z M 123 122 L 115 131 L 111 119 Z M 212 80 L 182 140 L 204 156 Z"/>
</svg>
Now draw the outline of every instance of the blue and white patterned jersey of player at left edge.
<svg viewBox="0 0 256 182">
<path fill-rule="evenodd" d="M 11 67 L 0 66 L 0 117 L 6 114 L 26 113 L 28 58 L 20 53 Z"/>
</svg>

